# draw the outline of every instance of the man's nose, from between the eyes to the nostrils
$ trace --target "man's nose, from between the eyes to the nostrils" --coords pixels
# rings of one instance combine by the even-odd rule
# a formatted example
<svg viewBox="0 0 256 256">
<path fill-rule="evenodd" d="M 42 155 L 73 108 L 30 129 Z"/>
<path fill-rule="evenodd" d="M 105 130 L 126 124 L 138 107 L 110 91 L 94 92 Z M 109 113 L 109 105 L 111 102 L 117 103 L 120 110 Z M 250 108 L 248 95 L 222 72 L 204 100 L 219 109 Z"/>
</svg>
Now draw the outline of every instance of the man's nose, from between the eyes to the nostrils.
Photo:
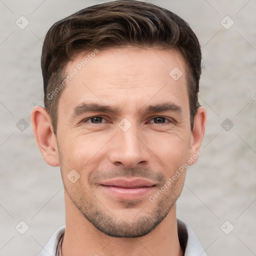
<svg viewBox="0 0 256 256">
<path fill-rule="evenodd" d="M 131 126 L 126 131 L 117 127 L 116 135 L 111 140 L 109 160 L 112 164 L 128 168 L 136 167 L 139 163 L 147 163 L 150 155 L 145 140 L 138 127 Z"/>
</svg>

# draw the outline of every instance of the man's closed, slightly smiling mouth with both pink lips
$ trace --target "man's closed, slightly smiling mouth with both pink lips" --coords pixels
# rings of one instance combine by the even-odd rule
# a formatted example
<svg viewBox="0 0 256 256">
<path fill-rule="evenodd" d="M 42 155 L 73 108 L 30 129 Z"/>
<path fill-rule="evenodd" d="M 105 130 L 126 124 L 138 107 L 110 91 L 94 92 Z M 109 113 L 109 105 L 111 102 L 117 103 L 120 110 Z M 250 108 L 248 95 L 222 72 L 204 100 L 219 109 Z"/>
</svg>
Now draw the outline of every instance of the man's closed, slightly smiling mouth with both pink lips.
<svg viewBox="0 0 256 256">
<path fill-rule="evenodd" d="M 113 179 L 107 180 L 100 184 L 100 187 L 107 192 L 107 194 L 123 200 L 138 199 L 145 196 L 156 186 L 155 182 L 136 178 L 128 179 Z"/>
</svg>

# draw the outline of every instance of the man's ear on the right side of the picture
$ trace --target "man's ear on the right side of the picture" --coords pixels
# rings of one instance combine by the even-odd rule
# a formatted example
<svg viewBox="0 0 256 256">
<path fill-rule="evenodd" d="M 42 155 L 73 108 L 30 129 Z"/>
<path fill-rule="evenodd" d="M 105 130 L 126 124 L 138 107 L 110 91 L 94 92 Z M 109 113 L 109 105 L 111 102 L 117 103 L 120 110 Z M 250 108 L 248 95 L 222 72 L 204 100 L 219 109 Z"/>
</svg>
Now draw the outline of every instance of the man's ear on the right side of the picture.
<svg viewBox="0 0 256 256">
<path fill-rule="evenodd" d="M 190 137 L 190 157 L 194 156 L 192 163 L 195 163 L 198 158 L 198 155 L 200 155 L 199 150 L 200 150 L 200 146 L 201 146 L 203 135 L 204 135 L 205 123 L 206 123 L 206 110 L 204 107 L 199 106 L 194 116 L 194 125 L 193 125 L 193 130 L 191 131 L 191 137 Z M 197 156 L 195 157 L 195 155 Z"/>
</svg>

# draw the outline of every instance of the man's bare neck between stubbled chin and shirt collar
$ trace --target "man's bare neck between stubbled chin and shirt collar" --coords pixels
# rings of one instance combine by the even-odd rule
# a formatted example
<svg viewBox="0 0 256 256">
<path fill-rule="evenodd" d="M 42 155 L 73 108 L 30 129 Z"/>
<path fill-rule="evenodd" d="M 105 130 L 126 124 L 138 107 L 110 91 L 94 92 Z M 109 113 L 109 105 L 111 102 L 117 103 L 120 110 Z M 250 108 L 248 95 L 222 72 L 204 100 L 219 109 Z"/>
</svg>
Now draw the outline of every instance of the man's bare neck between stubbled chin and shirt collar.
<svg viewBox="0 0 256 256">
<path fill-rule="evenodd" d="M 140 237 L 112 237 L 94 227 L 65 194 L 66 228 L 62 256 L 184 255 L 179 245 L 174 204 L 166 217 L 148 234 Z"/>
</svg>

